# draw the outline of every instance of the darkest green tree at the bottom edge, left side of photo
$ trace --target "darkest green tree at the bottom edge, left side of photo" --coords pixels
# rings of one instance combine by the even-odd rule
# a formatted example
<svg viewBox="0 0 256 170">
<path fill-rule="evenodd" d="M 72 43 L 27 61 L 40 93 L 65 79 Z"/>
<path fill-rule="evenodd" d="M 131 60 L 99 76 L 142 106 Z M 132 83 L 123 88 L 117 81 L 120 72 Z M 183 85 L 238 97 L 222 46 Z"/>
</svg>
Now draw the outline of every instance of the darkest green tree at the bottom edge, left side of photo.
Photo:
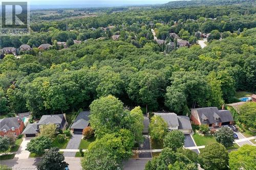
<svg viewBox="0 0 256 170">
<path fill-rule="evenodd" d="M 40 162 L 36 165 L 38 170 L 45 169 L 56 169 L 63 170 L 65 167 L 68 167 L 68 163 L 65 162 L 65 157 L 62 153 L 58 152 L 58 148 L 51 148 L 46 151 L 46 153 L 42 156 Z"/>
</svg>

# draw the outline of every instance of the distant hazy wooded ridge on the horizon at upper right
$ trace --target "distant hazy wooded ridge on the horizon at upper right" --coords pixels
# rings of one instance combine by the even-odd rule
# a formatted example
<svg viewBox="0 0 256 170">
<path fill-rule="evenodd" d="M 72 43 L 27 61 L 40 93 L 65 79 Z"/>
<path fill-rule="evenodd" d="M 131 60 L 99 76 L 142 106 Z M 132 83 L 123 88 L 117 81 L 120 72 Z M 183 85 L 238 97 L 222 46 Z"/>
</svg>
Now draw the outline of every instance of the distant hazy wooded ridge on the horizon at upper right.
<svg viewBox="0 0 256 170">
<path fill-rule="evenodd" d="M 184 8 L 191 6 L 211 6 L 211 5 L 232 5 L 232 4 L 243 4 L 243 3 L 254 3 L 254 0 L 192 0 L 192 1 L 172 1 L 161 5 L 167 8 Z"/>
</svg>

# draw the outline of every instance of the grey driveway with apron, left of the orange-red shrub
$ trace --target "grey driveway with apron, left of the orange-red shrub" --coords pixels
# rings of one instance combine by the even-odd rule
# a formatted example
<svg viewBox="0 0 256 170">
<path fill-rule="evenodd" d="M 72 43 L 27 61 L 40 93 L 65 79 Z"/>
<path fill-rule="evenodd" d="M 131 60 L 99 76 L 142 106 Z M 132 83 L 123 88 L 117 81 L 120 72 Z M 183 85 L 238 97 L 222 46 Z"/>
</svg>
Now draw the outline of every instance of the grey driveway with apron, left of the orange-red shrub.
<svg viewBox="0 0 256 170">
<path fill-rule="evenodd" d="M 66 149 L 78 149 L 81 139 L 82 139 L 81 134 L 74 134 L 69 140 L 69 143 Z M 64 152 L 63 154 L 65 157 L 75 157 L 76 152 Z"/>
</svg>

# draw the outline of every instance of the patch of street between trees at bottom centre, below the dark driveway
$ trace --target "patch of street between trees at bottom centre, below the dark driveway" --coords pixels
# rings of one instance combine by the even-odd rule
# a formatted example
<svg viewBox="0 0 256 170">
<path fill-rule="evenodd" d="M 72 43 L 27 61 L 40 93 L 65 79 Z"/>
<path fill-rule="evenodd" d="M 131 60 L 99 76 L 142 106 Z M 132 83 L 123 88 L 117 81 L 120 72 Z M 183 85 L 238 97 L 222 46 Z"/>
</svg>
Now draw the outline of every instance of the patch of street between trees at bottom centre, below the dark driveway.
<svg viewBox="0 0 256 170">
<path fill-rule="evenodd" d="M 125 160 L 123 161 L 123 169 L 124 170 L 144 170 L 148 160 L 151 160 L 151 158 Z"/>
</svg>

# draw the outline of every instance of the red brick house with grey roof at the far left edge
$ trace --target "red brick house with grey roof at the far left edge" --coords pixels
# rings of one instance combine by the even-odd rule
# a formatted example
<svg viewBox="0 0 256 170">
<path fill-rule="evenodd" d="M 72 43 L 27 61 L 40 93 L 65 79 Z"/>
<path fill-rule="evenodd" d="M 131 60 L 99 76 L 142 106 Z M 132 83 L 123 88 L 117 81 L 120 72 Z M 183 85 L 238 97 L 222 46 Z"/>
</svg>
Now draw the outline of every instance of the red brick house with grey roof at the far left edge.
<svg viewBox="0 0 256 170">
<path fill-rule="evenodd" d="M 0 119 L 0 135 L 13 133 L 15 136 L 22 134 L 25 125 L 22 117 L 5 117 Z"/>
</svg>

